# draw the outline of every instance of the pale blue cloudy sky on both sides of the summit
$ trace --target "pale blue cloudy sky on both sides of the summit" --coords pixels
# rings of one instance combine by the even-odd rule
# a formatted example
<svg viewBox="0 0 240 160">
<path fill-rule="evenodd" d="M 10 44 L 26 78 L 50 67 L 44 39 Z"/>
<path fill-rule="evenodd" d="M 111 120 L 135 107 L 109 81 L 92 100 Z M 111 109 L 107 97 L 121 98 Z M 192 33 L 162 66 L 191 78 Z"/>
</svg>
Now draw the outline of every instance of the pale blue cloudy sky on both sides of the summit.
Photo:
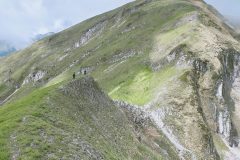
<svg viewBox="0 0 240 160">
<path fill-rule="evenodd" d="M 37 34 L 59 32 L 132 0 L 0 0 L 0 41 L 17 49 Z M 176 0 L 177 1 L 177 0 Z M 205 0 L 240 21 L 240 0 Z"/>
</svg>

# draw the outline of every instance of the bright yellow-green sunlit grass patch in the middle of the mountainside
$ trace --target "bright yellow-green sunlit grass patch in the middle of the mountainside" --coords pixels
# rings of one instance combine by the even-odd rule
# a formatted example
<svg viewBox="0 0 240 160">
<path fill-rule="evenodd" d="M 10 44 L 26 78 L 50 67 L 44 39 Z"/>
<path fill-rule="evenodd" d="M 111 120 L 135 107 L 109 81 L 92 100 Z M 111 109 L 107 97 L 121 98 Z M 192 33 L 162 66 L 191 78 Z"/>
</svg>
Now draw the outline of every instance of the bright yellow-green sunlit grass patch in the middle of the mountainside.
<svg viewBox="0 0 240 160">
<path fill-rule="evenodd" d="M 109 92 L 110 97 L 116 100 L 127 101 L 132 104 L 144 105 L 150 102 L 157 91 L 167 85 L 177 74 L 175 67 L 166 67 L 159 72 L 145 68 L 135 75 L 133 79 L 124 81 Z"/>
</svg>

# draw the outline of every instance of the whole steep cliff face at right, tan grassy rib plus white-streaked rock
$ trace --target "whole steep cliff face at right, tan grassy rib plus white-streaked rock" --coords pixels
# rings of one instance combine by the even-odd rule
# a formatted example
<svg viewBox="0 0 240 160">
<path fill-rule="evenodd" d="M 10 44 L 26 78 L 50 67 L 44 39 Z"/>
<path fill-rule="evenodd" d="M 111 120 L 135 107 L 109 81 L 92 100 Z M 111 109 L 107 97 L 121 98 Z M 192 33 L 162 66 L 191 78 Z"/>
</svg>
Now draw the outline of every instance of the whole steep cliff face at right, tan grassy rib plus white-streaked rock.
<svg viewBox="0 0 240 160">
<path fill-rule="evenodd" d="M 193 63 L 192 85 L 198 97 L 198 111 L 208 126 L 209 135 L 218 134 L 229 147 L 228 154 L 231 156 L 225 154 L 226 159 L 239 156 L 232 151 L 239 149 L 239 126 L 235 119 L 239 103 L 236 98 L 239 95 L 236 92 L 239 86 L 239 56 L 234 49 L 223 50 L 218 57 L 221 63 L 218 73 L 206 60 L 198 59 Z M 212 136 L 210 139 L 212 141 Z"/>
</svg>

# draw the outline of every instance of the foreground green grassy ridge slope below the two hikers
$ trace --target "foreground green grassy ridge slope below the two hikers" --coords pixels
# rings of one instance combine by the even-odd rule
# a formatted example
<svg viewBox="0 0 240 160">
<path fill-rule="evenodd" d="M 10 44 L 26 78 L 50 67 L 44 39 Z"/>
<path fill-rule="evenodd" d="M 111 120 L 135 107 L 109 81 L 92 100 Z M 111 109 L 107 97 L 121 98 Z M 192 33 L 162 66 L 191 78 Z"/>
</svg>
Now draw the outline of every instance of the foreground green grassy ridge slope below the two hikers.
<svg viewBox="0 0 240 160">
<path fill-rule="evenodd" d="M 0 159 L 3 160 L 10 156 L 161 159 L 156 150 L 137 140 L 123 112 L 90 78 L 41 88 L 3 106 L 0 130 Z M 158 141 L 165 148 L 170 147 L 159 137 Z"/>
</svg>

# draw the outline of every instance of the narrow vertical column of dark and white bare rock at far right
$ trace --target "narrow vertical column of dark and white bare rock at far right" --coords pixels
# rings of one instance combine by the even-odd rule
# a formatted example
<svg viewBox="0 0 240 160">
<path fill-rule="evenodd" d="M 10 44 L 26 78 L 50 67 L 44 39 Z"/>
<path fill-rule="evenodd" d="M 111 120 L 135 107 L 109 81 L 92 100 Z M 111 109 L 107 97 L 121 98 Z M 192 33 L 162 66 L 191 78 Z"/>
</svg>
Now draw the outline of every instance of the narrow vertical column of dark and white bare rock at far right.
<svg viewBox="0 0 240 160">
<path fill-rule="evenodd" d="M 218 131 L 229 142 L 230 147 L 238 147 L 239 144 L 239 136 L 233 123 L 235 102 L 231 96 L 233 83 L 239 77 L 239 56 L 238 52 L 230 49 L 224 51 L 223 57 L 220 58 L 223 69 L 220 79 L 222 84 L 220 84 L 219 90 L 222 90 L 223 108 L 217 116 Z"/>
</svg>

